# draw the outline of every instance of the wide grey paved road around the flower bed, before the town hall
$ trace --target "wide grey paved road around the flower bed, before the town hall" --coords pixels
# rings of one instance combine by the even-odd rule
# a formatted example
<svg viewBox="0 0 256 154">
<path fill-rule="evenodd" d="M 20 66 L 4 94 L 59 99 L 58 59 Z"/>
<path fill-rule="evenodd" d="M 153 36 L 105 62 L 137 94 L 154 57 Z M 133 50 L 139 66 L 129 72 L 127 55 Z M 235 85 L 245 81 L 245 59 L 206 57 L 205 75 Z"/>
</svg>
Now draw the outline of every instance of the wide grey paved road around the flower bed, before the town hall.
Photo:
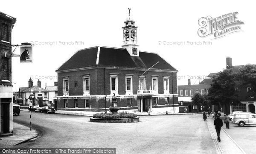
<svg viewBox="0 0 256 154">
<path fill-rule="evenodd" d="M 29 126 L 29 112 L 14 121 Z M 117 153 L 207 153 L 215 146 L 201 115 L 141 116 L 140 123 L 92 123 L 89 117 L 33 113 L 39 137 L 17 148 L 116 148 Z"/>
</svg>

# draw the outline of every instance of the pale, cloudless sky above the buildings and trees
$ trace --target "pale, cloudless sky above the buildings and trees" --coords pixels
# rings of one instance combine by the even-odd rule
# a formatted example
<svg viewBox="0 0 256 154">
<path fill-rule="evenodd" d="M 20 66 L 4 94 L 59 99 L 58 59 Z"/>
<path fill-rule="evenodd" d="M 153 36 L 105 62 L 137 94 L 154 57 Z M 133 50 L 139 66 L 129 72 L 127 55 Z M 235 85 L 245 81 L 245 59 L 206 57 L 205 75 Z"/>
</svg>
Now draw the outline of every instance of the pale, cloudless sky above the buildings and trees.
<svg viewBox="0 0 256 154">
<path fill-rule="evenodd" d="M 18 91 L 19 87 L 28 87 L 30 77 L 34 85 L 41 79 L 42 87 L 46 83 L 53 86 L 57 81 L 55 70 L 79 49 L 98 45 L 121 48 L 128 8 L 138 26 L 139 50 L 158 53 L 175 67 L 178 85 L 186 85 L 187 79 L 197 84 L 198 76 L 222 71 L 227 56 L 232 57 L 233 65 L 256 64 L 253 6 L 253 2 L 238 0 L 1 0 L 0 11 L 17 18 L 13 45 L 35 44 L 32 63 L 12 58 Z M 237 19 L 244 22 L 240 32 L 219 39 L 198 36 L 201 17 L 215 18 L 230 12 L 238 12 Z M 197 45 L 204 41 L 210 43 Z M 20 54 L 19 47 L 15 54 Z"/>
</svg>

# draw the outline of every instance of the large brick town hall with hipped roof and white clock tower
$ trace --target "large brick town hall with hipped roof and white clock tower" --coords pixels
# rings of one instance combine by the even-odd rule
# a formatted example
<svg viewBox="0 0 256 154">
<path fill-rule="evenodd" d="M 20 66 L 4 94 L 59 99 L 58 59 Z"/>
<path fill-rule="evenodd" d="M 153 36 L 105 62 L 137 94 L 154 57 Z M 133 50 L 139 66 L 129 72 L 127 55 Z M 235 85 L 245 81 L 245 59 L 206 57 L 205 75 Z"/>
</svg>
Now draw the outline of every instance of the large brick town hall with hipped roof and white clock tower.
<svg viewBox="0 0 256 154">
<path fill-rule="evenodd" d="M 177 72 L 157 53 L 141 51 L 130 15 L 122 27 L 122 48 L 78 50 L 58 73 L 58 110 L 178 112 Z"/>
</svg>

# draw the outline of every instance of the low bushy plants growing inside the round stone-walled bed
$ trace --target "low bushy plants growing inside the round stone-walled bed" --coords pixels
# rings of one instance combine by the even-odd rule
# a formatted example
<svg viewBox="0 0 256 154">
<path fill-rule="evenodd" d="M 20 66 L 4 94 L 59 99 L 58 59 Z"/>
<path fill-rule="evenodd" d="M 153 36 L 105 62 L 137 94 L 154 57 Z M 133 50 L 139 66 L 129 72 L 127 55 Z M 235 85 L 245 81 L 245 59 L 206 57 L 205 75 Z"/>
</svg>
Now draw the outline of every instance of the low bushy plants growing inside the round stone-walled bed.
<svg viewBox="0 0 256 154">
<path fill-rule="evenodd" d="M 99 119 L 119 119 L 119 118 L 135 118 L 137 117 L 134 113 L 120 112 L 119 114 L 112 113 L 96 113 L 93 114 L 93 118 Z"/>
</svg>

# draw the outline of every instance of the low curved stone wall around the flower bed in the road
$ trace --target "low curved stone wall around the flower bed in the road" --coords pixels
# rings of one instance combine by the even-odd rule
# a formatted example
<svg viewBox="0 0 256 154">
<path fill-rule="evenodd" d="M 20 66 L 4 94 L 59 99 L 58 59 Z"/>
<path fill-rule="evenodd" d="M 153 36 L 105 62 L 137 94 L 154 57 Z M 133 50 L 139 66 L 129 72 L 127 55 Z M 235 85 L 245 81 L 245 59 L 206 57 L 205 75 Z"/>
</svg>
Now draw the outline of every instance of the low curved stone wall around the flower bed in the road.
<svg viewBox="0 0 256 154">
<path fill-rule="evenodd" d="M 90 121 L 91 122 L 98 122 L 98 123 L 137 123 L 137 122 L 140 122 L 140 117 L 117 118 L 117 119 L 90 118 Z"/>
</svg>

